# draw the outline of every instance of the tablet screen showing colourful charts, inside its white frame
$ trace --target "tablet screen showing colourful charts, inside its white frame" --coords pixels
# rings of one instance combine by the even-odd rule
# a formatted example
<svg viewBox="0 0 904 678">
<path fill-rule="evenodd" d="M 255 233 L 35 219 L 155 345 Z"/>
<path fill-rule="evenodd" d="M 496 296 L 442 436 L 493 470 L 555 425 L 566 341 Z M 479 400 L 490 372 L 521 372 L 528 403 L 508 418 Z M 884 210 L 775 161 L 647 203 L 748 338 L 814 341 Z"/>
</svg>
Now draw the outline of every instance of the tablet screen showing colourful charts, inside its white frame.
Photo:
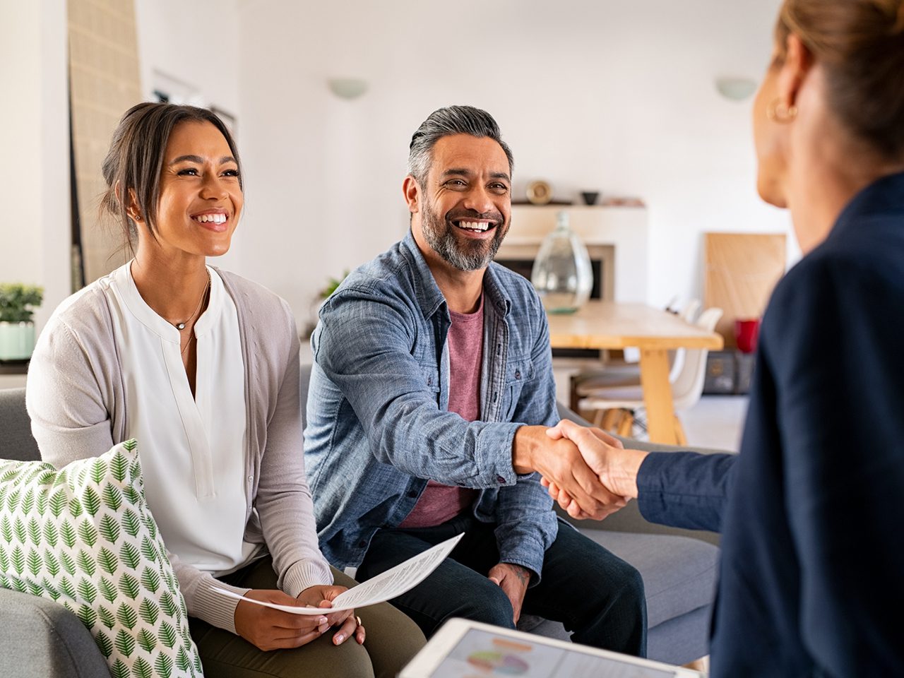
<svg viewBox="0 0 904 678">
<path fill-rule="evenodd" d="M 430 678 L 674 678 L 672 671 L 468 629 Z"/>
</svg>

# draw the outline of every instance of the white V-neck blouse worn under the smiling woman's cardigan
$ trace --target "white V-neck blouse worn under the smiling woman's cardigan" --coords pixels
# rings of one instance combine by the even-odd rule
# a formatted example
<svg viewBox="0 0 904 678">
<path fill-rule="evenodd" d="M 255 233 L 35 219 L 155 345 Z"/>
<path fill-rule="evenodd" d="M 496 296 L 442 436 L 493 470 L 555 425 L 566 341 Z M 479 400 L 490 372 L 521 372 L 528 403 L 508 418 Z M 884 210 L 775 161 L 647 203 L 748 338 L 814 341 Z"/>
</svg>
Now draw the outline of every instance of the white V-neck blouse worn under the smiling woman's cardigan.
<svg viewBox="0 0 904 678">
<path fill-rule="evenodd" d="M 131 262 L 106 287 L 121 351 L 127 438 L 138 441 L 147 504 L 167 550 L 214 577 L 238 570 L 260 547 L 244 541 L 245 368 L 235 304 L 215 270 L 194 324 L 195 395 L 179 331 L 141 297 Z"/>
</svg>

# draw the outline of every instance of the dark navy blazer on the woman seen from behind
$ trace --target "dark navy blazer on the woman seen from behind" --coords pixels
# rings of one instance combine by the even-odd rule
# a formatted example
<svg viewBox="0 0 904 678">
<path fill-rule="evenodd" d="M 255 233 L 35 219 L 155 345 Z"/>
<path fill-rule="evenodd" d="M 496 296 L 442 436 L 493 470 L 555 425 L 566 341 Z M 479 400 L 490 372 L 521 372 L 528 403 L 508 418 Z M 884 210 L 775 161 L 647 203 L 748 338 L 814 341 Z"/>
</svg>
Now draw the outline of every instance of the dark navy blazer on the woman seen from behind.
<svg viewBox="0 0 904 678">
<path fill-rule="evenodd" d="M 904 174 L 777 286 L 739 456 L 654 453 L 638 487 L 722 532 L 712 676 L 904 676 Z"/>
</svg>

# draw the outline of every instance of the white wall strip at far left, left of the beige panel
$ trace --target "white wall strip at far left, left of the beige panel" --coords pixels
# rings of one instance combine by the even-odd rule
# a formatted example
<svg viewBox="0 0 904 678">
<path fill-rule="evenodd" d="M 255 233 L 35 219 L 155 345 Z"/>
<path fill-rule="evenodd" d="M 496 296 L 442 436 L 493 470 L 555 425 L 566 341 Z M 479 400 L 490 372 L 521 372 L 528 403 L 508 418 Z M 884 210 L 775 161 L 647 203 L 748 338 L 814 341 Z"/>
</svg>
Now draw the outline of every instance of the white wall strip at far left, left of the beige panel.
<svg viewBox="0 0 904 678">
<path fill-rule="evenodd" d="M 0 2 L 0 282 L 44 287 L 41 327 L 71 289 L 65 0 Z"/>
</svg>

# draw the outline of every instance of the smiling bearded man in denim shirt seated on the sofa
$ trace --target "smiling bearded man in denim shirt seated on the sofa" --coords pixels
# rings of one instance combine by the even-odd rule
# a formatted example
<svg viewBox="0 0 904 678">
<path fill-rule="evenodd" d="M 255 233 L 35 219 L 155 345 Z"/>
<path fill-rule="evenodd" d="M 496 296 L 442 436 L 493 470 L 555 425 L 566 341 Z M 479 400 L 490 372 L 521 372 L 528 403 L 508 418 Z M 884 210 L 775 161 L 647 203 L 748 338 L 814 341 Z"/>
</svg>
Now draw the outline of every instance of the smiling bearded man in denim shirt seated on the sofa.
<svg viewBox="0 0 904 678">
<path fill-rule="evenodd" d="M 448 617 L 511 628 L 528 613 L 643 655 L 640 575 L 560 523 L 534 473 L 588 513 L 623 504 L 577 447 L 546 435 L 559 421 L 546 315 L 531 284 L 493 262 L 512 168 L 488 113 L 432 113 L 402 184 L 409 234 L 322 307 L 305 431 L 320 545 L 364 580 L 465 532 L 391 601 L 427 636 Z"/>
</svg>

